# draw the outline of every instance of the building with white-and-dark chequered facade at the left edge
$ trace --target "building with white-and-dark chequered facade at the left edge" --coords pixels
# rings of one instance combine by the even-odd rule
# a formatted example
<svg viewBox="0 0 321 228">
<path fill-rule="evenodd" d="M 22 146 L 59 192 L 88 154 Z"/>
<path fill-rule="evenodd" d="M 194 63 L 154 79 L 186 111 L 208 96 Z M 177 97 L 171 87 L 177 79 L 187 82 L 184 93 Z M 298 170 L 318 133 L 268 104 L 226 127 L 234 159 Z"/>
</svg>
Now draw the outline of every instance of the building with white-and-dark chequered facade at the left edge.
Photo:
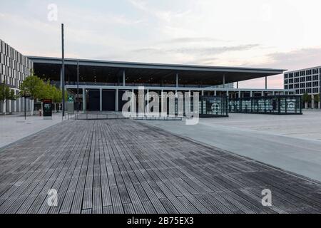
<svg viewBox="0 0 321 228">
<path fill-rule="evenodd" d="M 0 39 L 0 83 L 6 84 L 14 90 L 15 94 L 18 94 L 22 81 L 30 75 L 32 67 L 33 63 L 29 58 Z M 0 105 L 0 113 L 19 112 L 23 105 L 21 103 L 21 98 L 6 100 Z"/>
</svg>

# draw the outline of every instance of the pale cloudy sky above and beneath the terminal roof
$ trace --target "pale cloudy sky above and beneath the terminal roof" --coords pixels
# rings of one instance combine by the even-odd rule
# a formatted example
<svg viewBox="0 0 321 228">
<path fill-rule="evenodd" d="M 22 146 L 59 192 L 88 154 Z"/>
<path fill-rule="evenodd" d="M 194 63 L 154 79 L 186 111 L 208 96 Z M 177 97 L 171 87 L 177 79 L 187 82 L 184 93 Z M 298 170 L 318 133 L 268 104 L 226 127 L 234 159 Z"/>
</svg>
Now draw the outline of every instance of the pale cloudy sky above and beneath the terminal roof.
<svg viewBox="0 0 321 228">
<path fill-rule="evenodd" d="M 321 66 L 320 0 L 0 0 L 0 38 L 24 55 L 110 61 Z M 264 79 L 239 83 L 264 88 Z M 268 88 L 283 88 L 271 76 Z"/>
</svg>

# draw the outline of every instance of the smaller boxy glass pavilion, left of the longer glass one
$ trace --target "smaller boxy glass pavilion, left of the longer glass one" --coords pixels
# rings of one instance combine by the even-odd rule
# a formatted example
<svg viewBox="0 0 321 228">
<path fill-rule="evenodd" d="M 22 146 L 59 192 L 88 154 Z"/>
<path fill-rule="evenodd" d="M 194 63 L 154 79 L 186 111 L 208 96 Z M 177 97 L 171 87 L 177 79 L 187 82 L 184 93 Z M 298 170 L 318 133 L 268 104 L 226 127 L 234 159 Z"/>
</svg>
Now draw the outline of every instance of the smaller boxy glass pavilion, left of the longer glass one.
<svg viewBox="0 0 321 228">
<path fill-rule="evenodd" d="M 227 96 L 200 96 L 200 118 L 228 117 Z"/>
</svg>

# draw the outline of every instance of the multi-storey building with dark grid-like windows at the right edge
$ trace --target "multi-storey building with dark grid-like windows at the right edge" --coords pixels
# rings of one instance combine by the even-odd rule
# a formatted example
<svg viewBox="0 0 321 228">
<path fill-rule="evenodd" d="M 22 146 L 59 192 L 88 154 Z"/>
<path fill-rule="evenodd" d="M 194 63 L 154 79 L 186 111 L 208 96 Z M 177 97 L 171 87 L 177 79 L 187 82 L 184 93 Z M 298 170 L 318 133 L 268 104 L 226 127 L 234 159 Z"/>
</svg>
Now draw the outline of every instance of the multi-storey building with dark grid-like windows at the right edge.
<svg viewBox="0 0 321 228">
<path fill-rule="evenodd" d="M 318 102 L 315 99 L 316 95 L 320 98 L 320 74 L 321 66 L 288 71 L 284 73 L 284 88 L 295 90 L 298 95 L 311 95 L 311 102 L 305 104 L 306 108 L 320 108 L 320 99 Z"/>
</svg>

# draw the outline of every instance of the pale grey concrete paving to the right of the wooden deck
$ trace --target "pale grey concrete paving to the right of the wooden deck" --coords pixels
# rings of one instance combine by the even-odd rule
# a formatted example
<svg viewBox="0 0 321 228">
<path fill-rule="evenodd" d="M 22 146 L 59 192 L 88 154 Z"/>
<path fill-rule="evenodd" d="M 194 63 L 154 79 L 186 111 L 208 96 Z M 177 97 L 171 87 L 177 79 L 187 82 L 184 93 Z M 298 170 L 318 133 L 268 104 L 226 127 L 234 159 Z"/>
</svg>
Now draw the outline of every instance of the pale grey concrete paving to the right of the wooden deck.
<svg viewBox="0 0 321 228">
<path fill-rule="evenodd" d="M 321 181 L 321 112 L 304 115 L 230 113 L 229 118 L 145 121 L 149 125 Z"/>
</svg>

